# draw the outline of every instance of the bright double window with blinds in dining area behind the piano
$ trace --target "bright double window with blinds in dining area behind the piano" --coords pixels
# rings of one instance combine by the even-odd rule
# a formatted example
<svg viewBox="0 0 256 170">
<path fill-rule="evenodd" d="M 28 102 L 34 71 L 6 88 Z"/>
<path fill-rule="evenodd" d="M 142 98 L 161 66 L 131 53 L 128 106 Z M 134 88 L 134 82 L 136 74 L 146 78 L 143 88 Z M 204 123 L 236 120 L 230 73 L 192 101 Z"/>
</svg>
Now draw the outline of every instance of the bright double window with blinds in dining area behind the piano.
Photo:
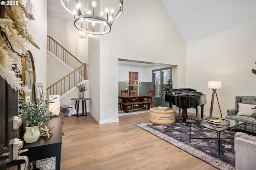
<svg viewBox="0 0 256 170">
<path fill-rule="evenodd" d="M 154 84 L 154 97 L 165 97 L 164 86 L 171 80 L 172 85 L 172 67 L 152 70 L 153 84 Z"/>
</svg>

